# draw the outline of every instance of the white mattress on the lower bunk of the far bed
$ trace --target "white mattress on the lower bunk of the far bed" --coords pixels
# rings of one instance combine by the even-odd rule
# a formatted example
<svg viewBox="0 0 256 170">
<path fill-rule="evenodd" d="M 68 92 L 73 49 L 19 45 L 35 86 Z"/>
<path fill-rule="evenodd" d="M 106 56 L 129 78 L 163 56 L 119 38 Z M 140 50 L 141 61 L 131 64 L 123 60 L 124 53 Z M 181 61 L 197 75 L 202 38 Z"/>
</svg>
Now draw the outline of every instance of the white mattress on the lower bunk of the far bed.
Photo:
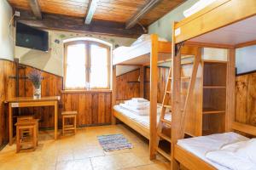
<svg viewBox="0 0 256 170">
<path fill-rule="evenodd" d="M 148 116 L 140 116 L 140 115 L 137 115 L 135 112 L 127 110 L 120 105 L 114 105 L 113 109 L 149 129 L 149 114 L 148 114 Z M 160 114 L 158 114 L 158 116 L 157 116 L 157 122 L 159 122 L 159 119 L 160 119 Z M 165 119 L 168 121 L 171 121 L 172 115 L 170 113 L 166 114 Z"/>
</svg>

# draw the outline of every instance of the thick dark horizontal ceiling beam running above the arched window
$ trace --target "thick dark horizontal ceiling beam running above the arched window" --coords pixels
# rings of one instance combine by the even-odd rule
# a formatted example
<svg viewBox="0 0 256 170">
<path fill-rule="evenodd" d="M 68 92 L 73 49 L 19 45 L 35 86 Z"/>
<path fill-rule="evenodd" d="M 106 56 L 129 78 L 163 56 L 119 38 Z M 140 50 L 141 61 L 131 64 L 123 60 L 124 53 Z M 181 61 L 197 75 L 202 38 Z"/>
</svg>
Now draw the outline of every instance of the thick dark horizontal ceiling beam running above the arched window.
<svg viewBox="0 0 256 170">
<path fill-rule="evenodd" d="M 96 33 L 117 37 L 138 37 L 143 34 L 143 29 L 140 26 L 126 30 L 125 24 L 119 22 L 93 20 L 90 25 L 84 25 L 84 18 L 58 14 L 44 14 L 42 20 L 36 20 L 30 11 L 15 10 L 20 11 L 20 17 L 15 17 L 15 20 L 42 29 Z"/>
</svg>

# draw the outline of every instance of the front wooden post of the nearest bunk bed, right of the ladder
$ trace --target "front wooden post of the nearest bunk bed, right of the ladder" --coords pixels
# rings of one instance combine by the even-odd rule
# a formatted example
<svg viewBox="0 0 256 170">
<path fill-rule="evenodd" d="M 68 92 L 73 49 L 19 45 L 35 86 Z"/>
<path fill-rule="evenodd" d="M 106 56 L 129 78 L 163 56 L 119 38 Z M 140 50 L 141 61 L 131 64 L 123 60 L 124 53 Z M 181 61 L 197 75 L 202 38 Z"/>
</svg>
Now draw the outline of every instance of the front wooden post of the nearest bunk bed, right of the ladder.
<svg viewBox="0 0 256 170">
<path fill-rule="evenodd" d="M 172 170 L 178 169 L 178 162 L 174 158 L 174 146 L 177 144 L 177 139 L 182 138 L 180 133 L 180 121 L 181 121 L 181 54 L 180 51 L 176 54 L 176 42 L 175 42 L 175 23 L 172 26 Z M 176 55 L 175 55 L 176 54 Z"/>
</svg>

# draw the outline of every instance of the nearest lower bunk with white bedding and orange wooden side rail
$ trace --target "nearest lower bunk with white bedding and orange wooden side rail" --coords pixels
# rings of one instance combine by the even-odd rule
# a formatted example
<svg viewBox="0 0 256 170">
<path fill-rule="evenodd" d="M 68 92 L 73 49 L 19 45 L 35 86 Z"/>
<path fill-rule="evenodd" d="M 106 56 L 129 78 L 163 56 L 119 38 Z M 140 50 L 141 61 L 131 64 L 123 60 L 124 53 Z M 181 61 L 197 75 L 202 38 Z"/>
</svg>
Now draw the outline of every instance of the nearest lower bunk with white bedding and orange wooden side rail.
<svg viewBox="0 0 256 170">
<path fill-rule="evenodd" d="M 217 133 L 179 139 L 174 158 L 190 170 L 256 169 L 256 140 L 238 133 Z"/>
</svg>

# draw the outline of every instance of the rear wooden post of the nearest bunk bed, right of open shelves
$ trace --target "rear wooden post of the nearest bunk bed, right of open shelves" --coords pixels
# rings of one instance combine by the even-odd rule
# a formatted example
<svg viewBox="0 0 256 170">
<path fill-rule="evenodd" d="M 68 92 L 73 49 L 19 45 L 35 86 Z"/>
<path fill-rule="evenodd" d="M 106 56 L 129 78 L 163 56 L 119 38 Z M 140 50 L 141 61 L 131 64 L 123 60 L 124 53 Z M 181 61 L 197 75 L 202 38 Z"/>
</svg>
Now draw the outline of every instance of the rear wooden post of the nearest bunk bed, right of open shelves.
<svg viewBox="0 0 256 170">
<path fill-rule="evenodd" d="M 236 48 L 228 49 L 225 131 L 231 131 L 235 122 Z"/>
</svg>

